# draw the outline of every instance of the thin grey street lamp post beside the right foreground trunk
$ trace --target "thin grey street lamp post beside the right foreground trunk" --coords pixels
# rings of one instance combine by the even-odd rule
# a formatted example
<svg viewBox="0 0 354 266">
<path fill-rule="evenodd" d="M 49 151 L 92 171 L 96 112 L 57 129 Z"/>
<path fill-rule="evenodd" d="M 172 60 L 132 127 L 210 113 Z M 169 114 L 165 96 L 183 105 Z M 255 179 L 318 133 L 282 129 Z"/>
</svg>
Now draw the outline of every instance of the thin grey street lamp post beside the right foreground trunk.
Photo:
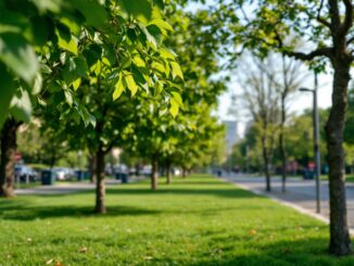
<svg viewBox="0 0 354 266">
<path fill-rule="evenodd" d="M 317 74 L 315 72 L 315 88 L 300 88 L 300 91 L 303 92 L 312 92 L 314 97 L 314 152 L 315 152 L 315 174 L 316 174 L 316 212 L 320 213 L 320 190 L 319 190 L 319 178 L 320 178 L 320 155 L 319 155 L 319 128 L 318 128 L 318 110 L 317 110 L 317 89 L 318 89 L 318 81 L 317 81 Z"/>
</svg>

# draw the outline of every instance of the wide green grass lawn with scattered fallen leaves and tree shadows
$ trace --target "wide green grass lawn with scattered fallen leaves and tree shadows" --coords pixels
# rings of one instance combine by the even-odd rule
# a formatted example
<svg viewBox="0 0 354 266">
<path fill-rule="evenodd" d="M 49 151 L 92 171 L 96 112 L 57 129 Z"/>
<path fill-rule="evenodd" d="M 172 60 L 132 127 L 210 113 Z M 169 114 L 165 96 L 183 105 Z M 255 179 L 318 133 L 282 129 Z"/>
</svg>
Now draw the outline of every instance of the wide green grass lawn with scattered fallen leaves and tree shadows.
<svg viewBox="0 0 354 266">
<path fill-rule="evenodd" d="M 162 179 L 161 182 L 164 180 Z M 0 265 L 354 265 L 327 255 L 328 227 L 208 176 L 0 200 Z"/>
</svg>

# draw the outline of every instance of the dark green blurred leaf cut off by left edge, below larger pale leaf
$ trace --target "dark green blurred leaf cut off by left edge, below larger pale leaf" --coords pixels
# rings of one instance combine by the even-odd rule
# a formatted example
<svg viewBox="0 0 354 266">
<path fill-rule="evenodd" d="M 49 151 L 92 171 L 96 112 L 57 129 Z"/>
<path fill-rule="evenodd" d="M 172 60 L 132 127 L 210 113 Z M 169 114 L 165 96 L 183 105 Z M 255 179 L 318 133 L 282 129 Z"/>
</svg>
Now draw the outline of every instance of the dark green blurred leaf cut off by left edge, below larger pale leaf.
<svg viewBox="0 0 354 266">
<path fill-rule="evenodd" d="M 12 75 L 7 67 L 0 62 L 0 128 L 9 115 L 10 102 L 15 93 L 16 87 Z"/>
</svg>

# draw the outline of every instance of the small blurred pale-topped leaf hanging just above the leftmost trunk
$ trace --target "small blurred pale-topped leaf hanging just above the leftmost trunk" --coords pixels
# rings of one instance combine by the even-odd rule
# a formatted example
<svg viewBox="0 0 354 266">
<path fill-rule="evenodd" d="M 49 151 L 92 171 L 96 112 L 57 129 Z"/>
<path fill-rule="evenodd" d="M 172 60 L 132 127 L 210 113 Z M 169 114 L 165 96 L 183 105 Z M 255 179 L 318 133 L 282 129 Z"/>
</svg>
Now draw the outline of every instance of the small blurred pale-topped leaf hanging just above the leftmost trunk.
<svg viewBox="0 0 354 266">
<path fill-rule="evenodd" d="M 31 115 L 31 103 L 29 94 L 26 90 L 22 90 L 21 96 L 12 98 L 10 104 L 10 114 L 15 117 L 16 121 L 23 121 L 28 123 Z"/>
</svg>

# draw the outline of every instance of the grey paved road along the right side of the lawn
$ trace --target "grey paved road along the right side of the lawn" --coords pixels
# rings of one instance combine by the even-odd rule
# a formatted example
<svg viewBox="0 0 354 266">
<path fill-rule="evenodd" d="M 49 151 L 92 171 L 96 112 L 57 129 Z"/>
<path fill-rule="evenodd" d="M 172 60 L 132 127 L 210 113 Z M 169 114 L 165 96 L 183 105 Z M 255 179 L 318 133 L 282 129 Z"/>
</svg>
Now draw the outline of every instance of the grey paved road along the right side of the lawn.
<svg viewBox="0 0 354 266">
<path fill-rule="evenodd" d="M 262 191 L 265 193 L 264 177 L 244 177 L 244 176 L 223 176 L 225 179 L 235 183 L 242 185 L 251 190 Z M 300 178 L 289 178 L 287 181 L 287 192 L 281 192 L 281 179 L 271 178 L 270 197 L 281 199 L 286 202 L 293 203 L 303 208 L 316 212 L 316 190 L 315 180 L 303 180 Z M 328 181 L 321 181 L 320 186 L 320 214 L 329 218 L 329 190 Z M 351 229 L 354 229 L 354 183 L 346 185 L 346 208 L 347 219 Z"/>
</svg>

